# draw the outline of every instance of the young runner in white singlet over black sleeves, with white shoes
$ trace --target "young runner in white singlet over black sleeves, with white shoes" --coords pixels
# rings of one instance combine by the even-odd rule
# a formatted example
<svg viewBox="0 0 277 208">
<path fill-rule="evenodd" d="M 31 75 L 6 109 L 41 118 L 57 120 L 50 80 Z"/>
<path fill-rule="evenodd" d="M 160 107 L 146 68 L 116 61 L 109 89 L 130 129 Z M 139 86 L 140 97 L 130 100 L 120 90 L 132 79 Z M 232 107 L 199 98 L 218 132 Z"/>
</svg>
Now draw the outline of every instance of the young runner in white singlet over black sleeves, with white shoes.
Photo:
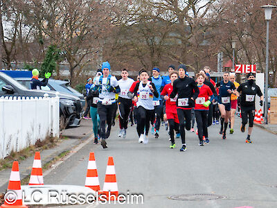
<svg viewBox="0 0 277 208">
<path fill-rule="evenodd" d="M 148 80 L 149 75 L 146 70 L 141 71 L 141 82 L 136 83 L 134 87 L 134 101 L 137 102 L 139 121 L 138 134 L 139 143 L 148 144 L 148 131 L 150 128 L 150 120 L 154 116 L 153 95 L 158 98 L 159 93 L 154 83 Z"/>
</svg>

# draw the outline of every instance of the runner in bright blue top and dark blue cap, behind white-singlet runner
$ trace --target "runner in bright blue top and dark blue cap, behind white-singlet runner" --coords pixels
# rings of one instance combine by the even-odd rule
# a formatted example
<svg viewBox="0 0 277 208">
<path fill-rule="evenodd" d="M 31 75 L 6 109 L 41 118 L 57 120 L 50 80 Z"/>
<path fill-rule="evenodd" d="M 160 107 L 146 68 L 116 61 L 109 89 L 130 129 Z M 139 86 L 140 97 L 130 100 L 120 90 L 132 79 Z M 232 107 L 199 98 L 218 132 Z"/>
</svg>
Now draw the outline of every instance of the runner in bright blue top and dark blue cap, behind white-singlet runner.
<svg viewBox="0 0 277 208">
<path fill-rule="evenodd" d="M 152 126 L 152 130 L 151 132 L 153 133 L 153 128 L 154 128 L 154 132 L 155 132 L 155 138 L 159 138 L 159 129 L 160 129 L 160 125 L 161 125 L 161 116 L 163 115 L 163 102 L 161 100 L 161 83 L 163 82 L 163 79 L 160 76 L 160 69 L 158 67 L 154 67 L 152 69 L 152 83 L 154 83 L 157 92 L 159 93 L 159 96 L 156 98 L 153 98 L 153 103 L 154 103 L 154 109 L 155 109 L 155 114 L 156 114 L 156 122 L 155 125 Z"/>
</svg>

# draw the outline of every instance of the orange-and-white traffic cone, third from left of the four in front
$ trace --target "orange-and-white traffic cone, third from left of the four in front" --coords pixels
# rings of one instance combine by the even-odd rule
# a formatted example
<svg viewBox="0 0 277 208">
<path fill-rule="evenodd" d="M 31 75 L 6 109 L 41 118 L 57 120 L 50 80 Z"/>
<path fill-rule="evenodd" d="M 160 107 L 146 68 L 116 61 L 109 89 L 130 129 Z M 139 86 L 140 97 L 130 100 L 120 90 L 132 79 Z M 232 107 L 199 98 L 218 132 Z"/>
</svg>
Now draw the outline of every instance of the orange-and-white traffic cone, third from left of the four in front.
<svg viewBox="0 0 277 208">
<path fill-rule="evenodd" d="M 94 153 L 89 153 L 89 164 L 87 164 L 87 177 L 84 186 L 89 187 L 94 191 L 100 190 Z"/>
</svg>

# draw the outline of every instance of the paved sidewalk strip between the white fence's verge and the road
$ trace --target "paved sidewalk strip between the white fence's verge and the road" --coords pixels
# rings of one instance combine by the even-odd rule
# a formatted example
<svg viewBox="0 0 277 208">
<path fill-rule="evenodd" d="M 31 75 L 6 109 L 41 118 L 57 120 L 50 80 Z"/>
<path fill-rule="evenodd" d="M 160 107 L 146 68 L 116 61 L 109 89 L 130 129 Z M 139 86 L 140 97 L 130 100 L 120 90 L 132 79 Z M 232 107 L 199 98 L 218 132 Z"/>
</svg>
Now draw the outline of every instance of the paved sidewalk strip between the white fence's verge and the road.
<svg viewBox="0 0 277 208">
<path fill-rule="evenodd" d="M 55 157 L 63 152 L 72 150 L 75 146 L 81 144 L 84 140 L 88 139 L 92 134 L 92 124 L 90 120 L 82 120 L 78 128 L 69 128 L 64 130 L 62 135 L 68 139 L 64 139 L 60 144 L 48 150 L 40 152 L 42 158 L 42 166 L 51 162 Z M 25 177 L 30 176 L 33 166 L 33 156 L 28 157 L 19 163 L 20 178 L 23 180 Z M 3 193 L 8 188 L 8 181 L 10 178 L 11 168 L 0 171 L 0 193 Z"/>
</svg>

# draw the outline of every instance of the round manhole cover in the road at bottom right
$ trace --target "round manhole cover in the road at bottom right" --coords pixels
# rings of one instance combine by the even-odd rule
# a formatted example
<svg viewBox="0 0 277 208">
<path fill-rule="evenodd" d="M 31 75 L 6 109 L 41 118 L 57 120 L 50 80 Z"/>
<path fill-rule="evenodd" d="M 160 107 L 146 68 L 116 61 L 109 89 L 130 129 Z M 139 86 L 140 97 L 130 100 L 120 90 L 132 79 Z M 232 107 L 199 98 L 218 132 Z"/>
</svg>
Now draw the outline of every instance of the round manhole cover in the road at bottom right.
<svg viewBox="0 0 277 208">
<path fill-rule="evenodd" d="M 168 197 L 171 200 L 184 200 L 184 201 L 202 201 L 202 200 L 217 200 L 224 199 L 226 196 L 216 194 L 182 194 Z"/>
</svg>

